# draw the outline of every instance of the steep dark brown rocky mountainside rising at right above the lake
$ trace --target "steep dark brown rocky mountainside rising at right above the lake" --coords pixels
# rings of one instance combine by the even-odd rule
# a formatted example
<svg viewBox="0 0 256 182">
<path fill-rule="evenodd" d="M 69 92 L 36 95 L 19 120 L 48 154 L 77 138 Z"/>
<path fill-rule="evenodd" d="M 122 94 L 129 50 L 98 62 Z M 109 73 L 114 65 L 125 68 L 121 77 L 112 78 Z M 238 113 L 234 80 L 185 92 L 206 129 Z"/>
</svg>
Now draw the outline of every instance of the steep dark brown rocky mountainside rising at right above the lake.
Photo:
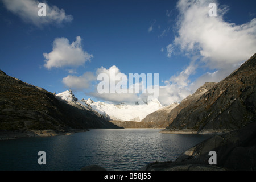
<svg viewBox="0 0 256 182">
<path fill-rule="evenodd" d="M 256 54 L 201 95 L 199 100 L 189 102 L 183 107 L 166 130 L 218 133 L 241 129 L 248 123 L 254 122 L 256 120 L 255 65 Z"/>
</svg>

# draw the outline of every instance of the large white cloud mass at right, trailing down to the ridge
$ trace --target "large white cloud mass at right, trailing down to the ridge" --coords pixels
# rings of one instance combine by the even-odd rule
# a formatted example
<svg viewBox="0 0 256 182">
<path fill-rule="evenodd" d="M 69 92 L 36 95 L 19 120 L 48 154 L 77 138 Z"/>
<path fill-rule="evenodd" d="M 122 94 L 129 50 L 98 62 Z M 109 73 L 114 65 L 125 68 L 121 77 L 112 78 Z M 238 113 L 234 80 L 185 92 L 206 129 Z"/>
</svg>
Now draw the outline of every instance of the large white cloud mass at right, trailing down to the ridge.
<svg viewBox="0 0 256 182">
<path fill-rule="evenodd" d="M 167 47 L 167 57 L 180 50 L 191 58 L 191 63 L 177 76 L 160 87 L 159 101 L 181 101 L 205 82 L 219 82 L 252 55 L 256 50 L 256 19 L 237 25 L 224 20 L 228 6 L 219 5 L 217 17 L 209 16 L 211 0 L 179 0 L 177 36 Z M 197 60 L 197 64 L 195 64 Z M 204 68 L 206 73 L 194 82 L 189 77 Z"/>
</svg>

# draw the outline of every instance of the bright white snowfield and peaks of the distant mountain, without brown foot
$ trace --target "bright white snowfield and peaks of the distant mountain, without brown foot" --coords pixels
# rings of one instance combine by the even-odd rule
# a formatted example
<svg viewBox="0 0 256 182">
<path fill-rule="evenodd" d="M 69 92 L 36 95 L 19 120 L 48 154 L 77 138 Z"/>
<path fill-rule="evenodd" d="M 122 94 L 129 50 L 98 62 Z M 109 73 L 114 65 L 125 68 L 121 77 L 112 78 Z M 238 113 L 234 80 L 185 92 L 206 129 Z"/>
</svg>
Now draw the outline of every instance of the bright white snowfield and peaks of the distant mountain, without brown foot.
<svg viewBox="0 0 256 182">
<path fill-rule="evenodd" d="M 102 114 L 106 119 L 117 121 L 141 121 L 148 114 L 163 108 L 160 102 L 155 100 L 135 102 L 134 104 L 109 104 L 106 102 L 94 102 L 90 98 L 88 100 L 77 100 L 72 91 L 65 91 L 56 95 L 57 97 L 67 102 L 76 102 L 84 105 L 88 109 L 92 109 Z"/>
</svg>

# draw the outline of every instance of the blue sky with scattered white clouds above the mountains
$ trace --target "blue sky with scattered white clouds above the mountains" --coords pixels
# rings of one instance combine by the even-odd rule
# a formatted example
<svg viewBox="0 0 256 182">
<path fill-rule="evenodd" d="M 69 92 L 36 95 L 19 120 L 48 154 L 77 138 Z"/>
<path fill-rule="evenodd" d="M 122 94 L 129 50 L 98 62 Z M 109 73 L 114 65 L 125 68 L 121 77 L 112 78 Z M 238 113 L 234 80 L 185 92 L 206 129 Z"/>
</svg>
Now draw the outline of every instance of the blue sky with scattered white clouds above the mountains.
<svg viewBox="0 0 256 182">
<path fill-rule="evenodd" d="M 47 4 L 47 17 L 38 17 L 39 2 Z M 217 4 L 217 17 L 207 15 L 210 2 Z M 159 101 L 179 102 L 256 52 L 255 5 L 254 0 L 1 0 L 0 69 L 49 92 L 71 88 L 79 99 L 113 102 L 134 102 L 134 96 L 98 94 L 97 73 L 159 73 Z M 58 60 L 72 42 L 76 52 L 64 51 L 68 60 Z"/>
</svg>

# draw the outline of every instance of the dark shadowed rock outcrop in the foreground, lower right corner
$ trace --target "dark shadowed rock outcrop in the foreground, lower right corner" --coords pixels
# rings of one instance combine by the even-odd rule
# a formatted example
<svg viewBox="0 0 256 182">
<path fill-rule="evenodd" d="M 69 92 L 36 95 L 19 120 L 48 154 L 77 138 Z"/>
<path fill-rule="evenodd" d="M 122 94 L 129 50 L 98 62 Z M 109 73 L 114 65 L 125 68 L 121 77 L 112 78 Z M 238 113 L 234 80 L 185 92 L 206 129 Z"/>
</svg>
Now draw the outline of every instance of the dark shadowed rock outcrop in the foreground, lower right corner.
<svg viewBox="0 0 256 182">
<path fill-rule="evenodd" d="M 209 164 L 209 152 L 216 152 L 216 165 Z M 240 130 L 214 137 L 189 148 L 174 162 L 154 162 L 142 170 L 212 171 L 256 170 L 256 122 Z"/>
</svg>

